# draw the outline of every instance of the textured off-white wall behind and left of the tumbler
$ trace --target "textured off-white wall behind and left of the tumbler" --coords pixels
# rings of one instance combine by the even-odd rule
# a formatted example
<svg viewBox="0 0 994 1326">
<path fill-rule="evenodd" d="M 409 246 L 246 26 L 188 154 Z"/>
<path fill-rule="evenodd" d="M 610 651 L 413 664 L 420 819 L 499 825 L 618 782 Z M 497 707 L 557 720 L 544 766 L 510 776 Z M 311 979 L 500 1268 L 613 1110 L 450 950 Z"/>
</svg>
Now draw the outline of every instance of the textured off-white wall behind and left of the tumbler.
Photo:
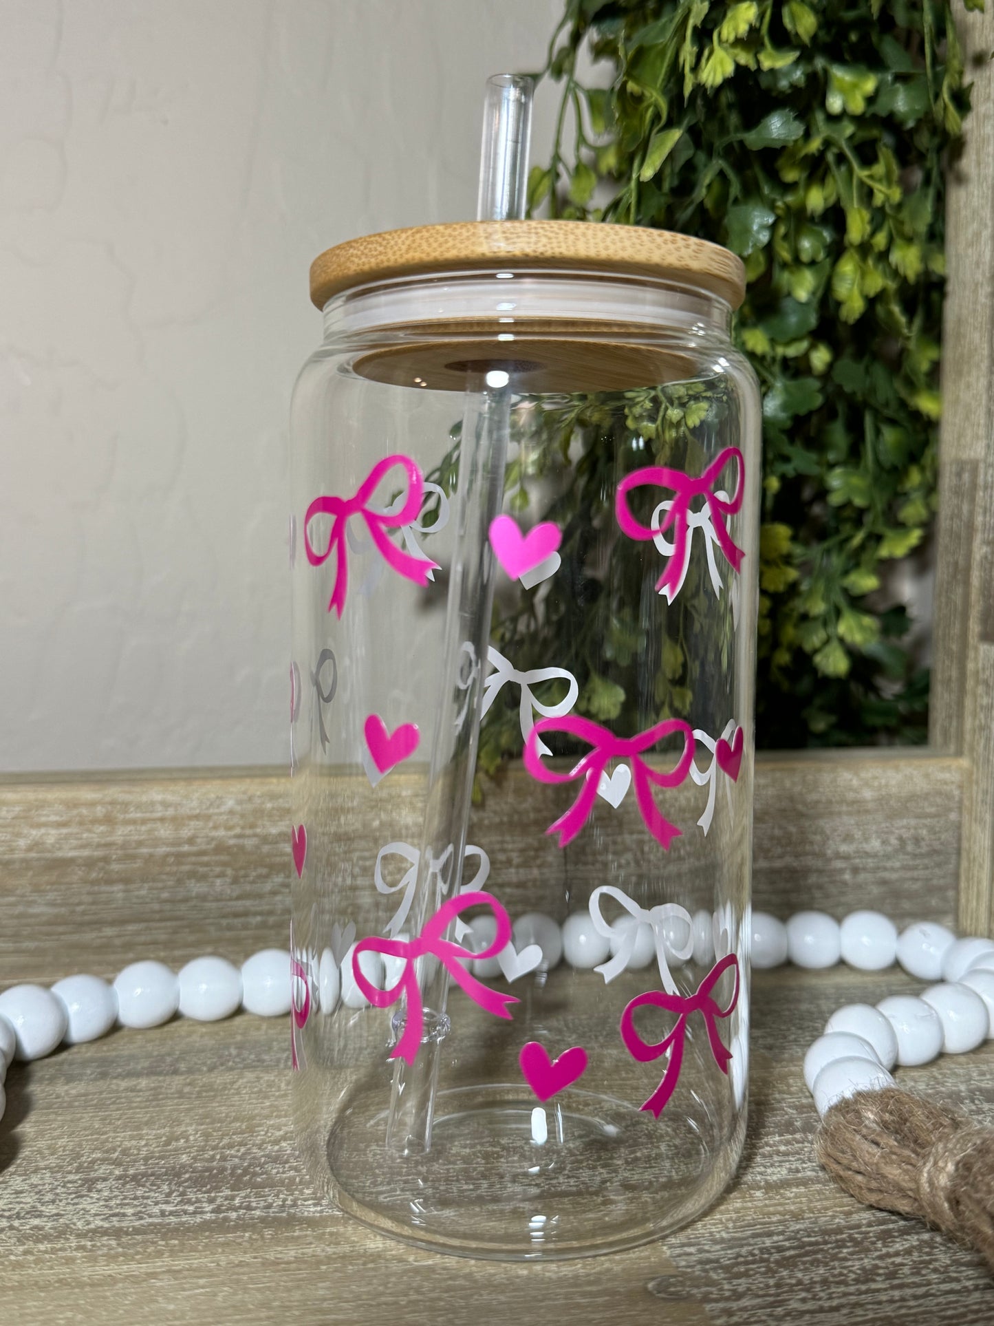
<svg viewBox="0 0 994 1326">
<path fill-rule="evenodd" d="M 0 0 L 0 769 L 286 757 L 307 267 L 473 215 L 561 11 Z"/>
</svg>

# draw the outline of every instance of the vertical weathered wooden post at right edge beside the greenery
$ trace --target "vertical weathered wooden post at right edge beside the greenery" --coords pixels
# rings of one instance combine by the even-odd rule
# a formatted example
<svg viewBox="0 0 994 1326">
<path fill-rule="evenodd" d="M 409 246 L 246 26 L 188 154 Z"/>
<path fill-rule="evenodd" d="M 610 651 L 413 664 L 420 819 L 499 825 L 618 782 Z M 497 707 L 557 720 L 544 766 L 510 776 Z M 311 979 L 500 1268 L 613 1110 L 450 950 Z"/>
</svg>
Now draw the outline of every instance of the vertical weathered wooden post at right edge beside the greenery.
<svg viewBox="0 0 994 1326">
<path fill-rule="evenodd" d="M 930 740 L 962 754 L 960 924 L 994 927 L 994 9 L 957 13 L 973 111 L 946 202 Z"/>
</svg>

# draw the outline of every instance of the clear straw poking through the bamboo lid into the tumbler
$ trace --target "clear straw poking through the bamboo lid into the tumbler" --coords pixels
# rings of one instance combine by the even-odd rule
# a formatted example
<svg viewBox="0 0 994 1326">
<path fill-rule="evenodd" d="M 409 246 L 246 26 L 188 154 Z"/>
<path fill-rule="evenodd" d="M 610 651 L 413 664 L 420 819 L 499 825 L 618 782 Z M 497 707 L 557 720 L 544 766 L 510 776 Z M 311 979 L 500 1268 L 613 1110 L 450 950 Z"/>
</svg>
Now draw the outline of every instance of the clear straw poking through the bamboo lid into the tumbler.
<svg viewBox="0 0 994 1326">
<path fill-rule="evenodd" d="M 525 216 L 533 91 L 533 81 L 518 74 L 496 74 L 486 82 L 477 220 L 522 220 Z M 412 935 L 420 934 L 444 902 L 440 871 L 432 865 L 448 850 L 453 862 L 449 884 L 453 895 L 461 884 L 493 606 L 494 565 L 488 534 L 504 500 L 509 383 L 510 374 L 494 362 L 492 370 L 484 371 L 481 385 L 474 382 L 468 387 L 463 411 L 456 542 L 419 880 L 411 908 Z M 470 660 L 468 684 L 467 659 Z M 453 721 L 453 715 L 461 716 L 461 721 Z M 412 1065 L 395 1061 L 387 1120 L 387 1147 L 402 1155 L 431 1148 L 439 1055 L 449 1030 L 445 1012 L 449 973 L 435 957 L 417 961 L 424 1010 L 421 1048 Z M 399 1026 L 396 1034 L 400 1034 Z"/>
</svg>

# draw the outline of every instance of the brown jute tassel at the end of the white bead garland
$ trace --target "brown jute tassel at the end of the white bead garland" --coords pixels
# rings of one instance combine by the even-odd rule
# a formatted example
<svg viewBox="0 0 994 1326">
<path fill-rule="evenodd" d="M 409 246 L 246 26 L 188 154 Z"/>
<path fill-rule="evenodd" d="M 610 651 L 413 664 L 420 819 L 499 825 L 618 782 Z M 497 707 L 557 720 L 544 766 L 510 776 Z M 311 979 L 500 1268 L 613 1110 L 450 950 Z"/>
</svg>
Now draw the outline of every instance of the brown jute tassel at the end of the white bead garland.
<svg viewBox="0 0 994 1326">
<path fill-rule="evenodd" d="M 994 1128 L 896 1087 L 860 1091 L 828 1110 L 815 1155 L 859 1201 L 925 1220 L 994 1274 Z"/>
</svg>

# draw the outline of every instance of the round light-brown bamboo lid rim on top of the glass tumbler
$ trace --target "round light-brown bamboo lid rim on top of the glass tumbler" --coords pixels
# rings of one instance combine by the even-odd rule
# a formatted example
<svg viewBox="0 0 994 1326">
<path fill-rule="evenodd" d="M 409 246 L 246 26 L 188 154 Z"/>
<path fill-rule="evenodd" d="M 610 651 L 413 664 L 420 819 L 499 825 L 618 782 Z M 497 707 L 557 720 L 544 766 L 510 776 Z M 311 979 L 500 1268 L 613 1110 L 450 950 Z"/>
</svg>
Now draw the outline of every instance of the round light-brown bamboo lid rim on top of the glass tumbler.
<svg viewBox="0 0 994 1326">
<path fill-rule="evenodd" d="M 347 240 L 310 267 L 310 297 L 334 294 L 432 271 L 586 268 L 598 273 L 679 281 L 717 294 L 737 309 L 745 294 L 740 259 L 718 244 L 672 231 L 603 221 L 455 221 Z"/>
</svg>

